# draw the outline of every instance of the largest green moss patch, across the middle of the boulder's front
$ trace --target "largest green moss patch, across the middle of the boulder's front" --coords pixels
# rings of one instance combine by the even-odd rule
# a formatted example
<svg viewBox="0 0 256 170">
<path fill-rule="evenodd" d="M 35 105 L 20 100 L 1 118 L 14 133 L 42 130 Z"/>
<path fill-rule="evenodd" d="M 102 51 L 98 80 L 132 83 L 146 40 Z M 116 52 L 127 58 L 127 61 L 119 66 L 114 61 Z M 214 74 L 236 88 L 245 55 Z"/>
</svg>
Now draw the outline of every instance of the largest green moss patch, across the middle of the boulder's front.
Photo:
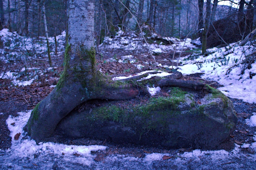
<svg viewBox="0 0 256 170">
<path fill-rule="evenodd" d="M 179 91 L 178 94 L 168 97 L 151 98 L 143 105 L 130 108 L 119 106 L 106 106 L 95 108 L 91 113 L 91 120 L 118 121 L 123 126 L 129 125 L 137 128 L 139 134 L 145 134 L 151 130 L 163 133 L 167 127 L 170 116 L 177 116 L 180 111 L 176 108 L 180 102 L 185 101 L 185 92 Z M 137 118 L 141 120 L 136 120 Z M 140 127 L 140 128 L 138 128 Z"/>
</svg>

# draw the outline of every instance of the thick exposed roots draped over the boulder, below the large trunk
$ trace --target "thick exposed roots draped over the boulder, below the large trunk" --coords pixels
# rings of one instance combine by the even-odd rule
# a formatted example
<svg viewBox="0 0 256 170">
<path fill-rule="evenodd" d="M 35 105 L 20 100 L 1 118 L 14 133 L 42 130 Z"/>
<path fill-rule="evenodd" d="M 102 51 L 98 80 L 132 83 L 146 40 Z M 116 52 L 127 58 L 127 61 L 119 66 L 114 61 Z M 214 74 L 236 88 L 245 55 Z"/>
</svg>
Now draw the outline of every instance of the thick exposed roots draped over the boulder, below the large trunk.
<svg viewBox="0 0 256 170">
<path fill-rule="evenodd" d="M 150 72 L 150 74 L 159 72 Z M 140 90 L 145 91 L 145 87 L 137 86 L 134 81 L 140 80 L 149 73 L 129 77 L 122 81 L 113 81 L 101 77 L 96 80 L 96 84 L 89 84 L 86 87 L 81 82 L 64 82 L 62 87 L 55 88 L 44 100 L 42 100 L 32 111 L 26 125 L 31 138 L 41 140 L 50 137 L 57 124 L 68 115 L 79 104 L 90 99 L 112 99 L 125 100 L 132 99 L 139 94 Z M 201 90 L 204 84 L 195 81 L 185 81 L 180 78 L 182 73 L 175 72 L 165 77 L 152 78 L 155 86 L 180 86 L 195 90 Z M 142 80 L 143 82 L 143 80 Z"/>
</svg>

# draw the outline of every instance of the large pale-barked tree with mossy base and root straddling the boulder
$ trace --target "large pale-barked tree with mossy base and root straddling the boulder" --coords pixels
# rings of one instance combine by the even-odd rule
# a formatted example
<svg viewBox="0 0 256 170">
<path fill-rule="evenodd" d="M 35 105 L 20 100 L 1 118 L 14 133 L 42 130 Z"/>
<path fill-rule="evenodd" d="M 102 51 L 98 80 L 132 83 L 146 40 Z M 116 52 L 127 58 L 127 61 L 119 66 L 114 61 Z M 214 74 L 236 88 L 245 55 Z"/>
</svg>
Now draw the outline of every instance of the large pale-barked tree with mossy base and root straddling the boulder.
<svg viewBox="0 0 256 170">
<path fill-rule="evenodd" d="M 94 0 L 69 0 L 68 29 L 64 72 L 54 90 L 31 112 L 26 125 L 28 134 L 36 140 L 50 137 L 57 124 L 68 113 L 89 99 L 132 99 L 140 90 L 136 83 L 132 84 L 126 79 L 115 82 L 97 71 L 94 51 Z M 174 73 L 168 78 L 180 77 L 179 74 L 181 73 Z M 168 86 L 167 80 L 162 82 L 164 86 Z M 200 88 L 202 85 L 193 85 L 191 82 L 189 84 L 193 88 Z"/>
</svg>

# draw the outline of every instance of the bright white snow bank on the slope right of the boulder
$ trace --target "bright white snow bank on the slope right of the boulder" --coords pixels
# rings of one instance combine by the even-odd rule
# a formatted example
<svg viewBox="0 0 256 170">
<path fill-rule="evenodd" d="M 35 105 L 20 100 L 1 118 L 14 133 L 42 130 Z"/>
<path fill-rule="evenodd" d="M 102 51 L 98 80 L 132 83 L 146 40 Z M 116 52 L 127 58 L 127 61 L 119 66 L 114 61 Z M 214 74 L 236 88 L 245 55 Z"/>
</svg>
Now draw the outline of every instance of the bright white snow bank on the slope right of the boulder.
<svg viewBox="0 0 256 170">
<path fill-rule="evenodd" d="M 244 102 L 256 102 L 256 63 L 251 64 L 251 69 L 241 70 L 244 66 L 245 56 L 252 53 L 252 46 L 240 47 L 238 43 L 230 44 L 223 48 L 211 48 L 208 56 L 186 60 L 188 56 L 181 58 L 183 62 L 178 71 L 183 74 L 204 73 L 203 79 L 217 81 L 223 87 L 218 88 L 226 96 L 241 99 Z"/>
</svg>

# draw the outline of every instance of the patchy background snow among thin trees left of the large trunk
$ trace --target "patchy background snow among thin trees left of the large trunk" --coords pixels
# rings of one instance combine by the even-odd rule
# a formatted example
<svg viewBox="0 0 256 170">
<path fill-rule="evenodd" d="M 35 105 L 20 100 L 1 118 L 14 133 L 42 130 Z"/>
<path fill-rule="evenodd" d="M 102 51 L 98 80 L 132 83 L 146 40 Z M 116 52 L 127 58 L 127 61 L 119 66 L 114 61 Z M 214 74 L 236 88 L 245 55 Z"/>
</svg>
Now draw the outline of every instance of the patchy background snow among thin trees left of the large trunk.
<svg viewBox="0 0 256 170">
<path fill-rule="evenodd" d="M 31 37 L 20 36 L 16 32 L 9 32 L 9 30 L 6 28 L 0 31 L 0 36 L 1 40 L 4 42 L 4 48 L 0 48 L 0 60 L 2 61 L 9 62 L 23 60 L 28 62 L 47 56 L 47 46 L 45 37 L 39 37 L 38 39 L 36 39 Z M 56 36 L 58 43 L 58 51 L 61 55 L 65 49 L 65 47 L 63 46 L 63 44 L 65 43 L 65 36 L 65 31 L 63 31 L 61 35 Z M 55 46 L 54 37 L 49 37 L 49 43 L 50 46 Z M 54 52 L 51 53 L 51 56 L 56 57 Z M 14 64 L 16 63 L 14 62 Z M 18 78 L 23 73 L 27 74 L 27 80 L 18 80 Z M 0 74 L 0 78 L 3 77 L 2 79 L 12 80 L 13 85 L 26 86 L 30 85 L 35 79 L 37 79 L 36 74 L 41 73 L 42 70 L 39 70 L 39 68 L 23 67 L 20 70 L 3 72 Z"/>
</svg>

